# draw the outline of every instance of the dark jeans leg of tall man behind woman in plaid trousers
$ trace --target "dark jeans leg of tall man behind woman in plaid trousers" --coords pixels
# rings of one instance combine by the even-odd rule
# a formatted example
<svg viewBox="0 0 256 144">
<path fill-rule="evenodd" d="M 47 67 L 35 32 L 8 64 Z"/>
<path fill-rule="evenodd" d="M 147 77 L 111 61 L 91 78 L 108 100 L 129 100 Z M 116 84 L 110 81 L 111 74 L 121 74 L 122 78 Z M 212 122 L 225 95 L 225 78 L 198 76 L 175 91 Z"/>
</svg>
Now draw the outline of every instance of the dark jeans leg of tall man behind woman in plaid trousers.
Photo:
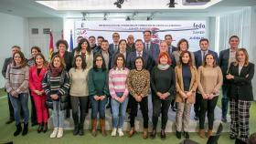
<svg viewBox="0 0 256 144">
<path fill-rule="evenodd" d="M 222 98 L 221 98 L 222 118 L 227 118 L 227 113 L 229 109 L 228 90 L 229 90 L 229 86 L 227 84 L 223 84 Z"/>
</svg>

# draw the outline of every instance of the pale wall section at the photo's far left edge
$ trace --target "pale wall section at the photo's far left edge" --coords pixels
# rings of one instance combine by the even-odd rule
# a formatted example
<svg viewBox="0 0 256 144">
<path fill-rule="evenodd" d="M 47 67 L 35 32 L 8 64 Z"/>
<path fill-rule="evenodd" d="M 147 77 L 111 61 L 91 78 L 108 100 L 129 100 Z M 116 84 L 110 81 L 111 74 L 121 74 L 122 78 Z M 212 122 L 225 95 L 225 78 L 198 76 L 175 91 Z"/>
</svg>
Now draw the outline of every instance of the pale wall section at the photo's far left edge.
<svg viewBox="0 0 256 144">
<path fill-rule="evenodd" d="M 11 57 L 11 47 L 21 46 L 22 51 L 28 57 L 27 50 L 29 49 L 28 34 L 27 34 L 27 18 L 7 15 L 0 13 L 0 67 L 5 62 L 6 57 Z M 5 78 L 0 77 L 0 87 L 5 86 Z"/>
</svg>

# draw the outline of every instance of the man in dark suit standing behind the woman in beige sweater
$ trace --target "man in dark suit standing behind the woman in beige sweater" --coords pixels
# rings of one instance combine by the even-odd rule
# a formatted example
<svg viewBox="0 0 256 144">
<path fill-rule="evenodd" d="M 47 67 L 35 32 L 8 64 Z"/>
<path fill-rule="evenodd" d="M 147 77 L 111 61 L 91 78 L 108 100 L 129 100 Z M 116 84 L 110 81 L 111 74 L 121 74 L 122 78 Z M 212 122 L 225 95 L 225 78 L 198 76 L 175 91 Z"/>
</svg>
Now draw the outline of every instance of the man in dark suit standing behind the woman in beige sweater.
<svg viewBox="0 0 256 144">
<path fill-rule="evenodd" d="M 212 54 L 213 57 L 215 58 L 217 64 L 218 64 L 218 54 L 212 50 L 208 49 L 208 39 L 207 38 L 202 38 L 199 41 L 199 46 L 200 46 L 200 50 L 197 50 L 196 52 L 194 52 L 194 56 L 195 56 L 195 63 L 196 63 L 196 67 L 200 67 L 203 65 L 204 63 L 204 58 L 205 56 L 209 53 Z M 197 93 L 196 94 L 196 103 L 194 104 L 194 111 L 195 111 L 195 119 L 198 120 L 198 116 L 199 116 L 199 110 L 200 110 L 200 95 Z"/>
</svg>

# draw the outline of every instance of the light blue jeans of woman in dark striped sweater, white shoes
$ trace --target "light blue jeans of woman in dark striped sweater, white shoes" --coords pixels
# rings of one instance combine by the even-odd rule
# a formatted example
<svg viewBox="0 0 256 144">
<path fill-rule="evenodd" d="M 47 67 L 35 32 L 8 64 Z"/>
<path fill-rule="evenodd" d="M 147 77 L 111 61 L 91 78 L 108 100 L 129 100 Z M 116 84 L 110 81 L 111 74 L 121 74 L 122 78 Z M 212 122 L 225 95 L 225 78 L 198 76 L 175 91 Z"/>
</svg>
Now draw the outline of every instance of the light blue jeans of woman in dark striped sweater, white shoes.
<svg viewBox="0 0 256 144">
<path fill-rule="evenodd" d="M 60 102 L 53 100 L 52 121 L 54 128 L 64 128 L 64 115 L 66 110 L 60 110 Z"/>
</svg>

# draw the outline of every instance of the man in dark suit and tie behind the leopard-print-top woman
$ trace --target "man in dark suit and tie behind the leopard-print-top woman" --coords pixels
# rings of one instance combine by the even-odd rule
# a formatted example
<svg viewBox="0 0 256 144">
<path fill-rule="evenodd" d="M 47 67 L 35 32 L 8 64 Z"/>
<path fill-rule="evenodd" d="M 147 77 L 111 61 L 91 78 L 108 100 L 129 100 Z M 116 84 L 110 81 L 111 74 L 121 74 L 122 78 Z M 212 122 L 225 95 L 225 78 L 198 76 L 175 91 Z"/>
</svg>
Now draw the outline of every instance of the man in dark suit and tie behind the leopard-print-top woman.
<svg viewBox="0 0 256 144">
<path fill-rule="evenodd" d="M 153 65 L 152 65 L 152 58 L 149 57 L 149 55 L 144 51 L 144 44 L 143 44 L 143 40 L 142 39 L 137 39 L 135 41 L 135 49 L 136 51 L 130 53 L 127 57 L 127 61 L 126 61 L 126 66 L 129 69 L 134 69 L 134 61 L 136 59 L 136 57 L 143 57 L 144 59 L 144 68 L 147 70 L 151 70 Z"/>
</svg>

